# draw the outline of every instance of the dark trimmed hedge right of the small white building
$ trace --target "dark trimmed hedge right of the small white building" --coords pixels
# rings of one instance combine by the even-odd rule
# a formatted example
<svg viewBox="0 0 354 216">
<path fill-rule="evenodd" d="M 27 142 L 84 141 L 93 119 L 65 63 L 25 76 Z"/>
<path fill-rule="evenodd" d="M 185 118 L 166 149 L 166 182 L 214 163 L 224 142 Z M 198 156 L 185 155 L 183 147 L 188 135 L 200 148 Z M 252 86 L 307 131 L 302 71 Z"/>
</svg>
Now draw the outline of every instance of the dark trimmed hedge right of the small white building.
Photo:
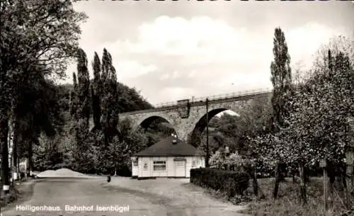
<svg viewBox="0 0 354 216">
<path fill-rule="evenodd" d="M 210 168 L 191 169 L 190 183 L 203 188 L 224 191 L 231 198 L 235 195 L 243 195 L 249 187 L 249 174 Z"/>
</svg>

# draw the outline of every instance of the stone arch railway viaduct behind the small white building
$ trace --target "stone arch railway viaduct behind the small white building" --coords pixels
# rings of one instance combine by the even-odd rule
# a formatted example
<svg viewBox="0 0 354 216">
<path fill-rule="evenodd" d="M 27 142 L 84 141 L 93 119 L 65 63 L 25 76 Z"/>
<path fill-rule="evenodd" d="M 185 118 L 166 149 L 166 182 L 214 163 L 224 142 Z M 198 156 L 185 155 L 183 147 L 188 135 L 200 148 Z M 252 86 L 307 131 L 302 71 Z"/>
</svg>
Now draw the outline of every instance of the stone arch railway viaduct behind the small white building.
<svg viewBox="0 0 354 216">
<path fill-rule="evenodd" d="M 209 120 L 224 110 L 232 110 L 235 113 L 241 113 L 242 108 L 250 101 L 256 98 L 265 98 L 271 95 L 270 89 L 261 89 L 256 91 L 244 91 L 229 93 L 218 96 L 209 96 L 204 98 L 191 98 L 176 102 L 163 103 L 155 108 L 147 110 L 137 110 L 129 113 L 120 113 L 120 120 L 130 118 L 133 123 L 133 129 L 149 125 L 158 118 L 163 118 L 176 131 L 179 139 L 187 140 L 188 135 L 196 130 L 202 132 L 206 127 L 206 101 L 208 99 L 208 117 Z"/>
</svg>

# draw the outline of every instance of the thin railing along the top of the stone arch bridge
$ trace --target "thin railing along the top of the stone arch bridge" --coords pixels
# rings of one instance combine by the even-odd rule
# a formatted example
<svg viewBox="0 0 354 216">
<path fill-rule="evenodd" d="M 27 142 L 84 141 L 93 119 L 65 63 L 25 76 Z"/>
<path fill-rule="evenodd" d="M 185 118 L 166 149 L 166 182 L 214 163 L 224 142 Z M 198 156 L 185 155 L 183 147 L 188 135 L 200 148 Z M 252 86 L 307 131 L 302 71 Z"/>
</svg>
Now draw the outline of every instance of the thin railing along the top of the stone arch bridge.
<svg viewBox="0 0 354 216">
<path fill-rule="evenodd" d="M 199 101 L 206 101 L 207 98 L 212 101 L 212 100 L 217 100 L 217 99 L 225 99 L 225 98 L 234 98 L 238 96 L 249 96 L 253 95 L 256 93 L 268 93 L 272 91 L 272 89 L 267 88 L 267 89 L 254 89 L 251 91 L 236 91 L 233 93 L 222 93 L 222 94 L 217 94 L 213 96 L 204 96 L 204 97 L 198 97 L 198 98 L 189 98 L 190 102 L 199 102 Z M 166 106 L 176 106 L 178 103 L 177 101 L 171 101 L 171 102 L 166 102 L 166 103 L 158 103 L 154 107 L 155 108 L 162 108 Z"/>
</svg>

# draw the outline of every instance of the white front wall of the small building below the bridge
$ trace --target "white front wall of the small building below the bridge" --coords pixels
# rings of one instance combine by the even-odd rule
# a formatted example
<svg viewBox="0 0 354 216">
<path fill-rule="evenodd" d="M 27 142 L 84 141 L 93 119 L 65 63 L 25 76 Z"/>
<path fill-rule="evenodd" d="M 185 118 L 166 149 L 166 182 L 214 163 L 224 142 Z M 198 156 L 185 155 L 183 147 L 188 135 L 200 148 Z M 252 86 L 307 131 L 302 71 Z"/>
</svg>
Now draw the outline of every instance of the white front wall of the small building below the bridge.
<svg viewBox="0 0 354 216">
<path fill-rule="evenodd" d="M 138 177 L 175 177 L 176 157 L 139 157 L 138 166 L 132 164 L 132 176 Z M 178 157 L 185 159 L 185 177 L 190 178 L 190 169 L 205 167 L 204 157 Z M 154 171 L 154 161 L 166 161 L 166 170 Z M 195 164 L 193 164 L 195 161 Z M 146 165 L 144 167 L 144 165 Z M 145 168 L 145 169 L 144 169 Z M 179 170 L 181 172 L 181 169 Z"/>
</svg>

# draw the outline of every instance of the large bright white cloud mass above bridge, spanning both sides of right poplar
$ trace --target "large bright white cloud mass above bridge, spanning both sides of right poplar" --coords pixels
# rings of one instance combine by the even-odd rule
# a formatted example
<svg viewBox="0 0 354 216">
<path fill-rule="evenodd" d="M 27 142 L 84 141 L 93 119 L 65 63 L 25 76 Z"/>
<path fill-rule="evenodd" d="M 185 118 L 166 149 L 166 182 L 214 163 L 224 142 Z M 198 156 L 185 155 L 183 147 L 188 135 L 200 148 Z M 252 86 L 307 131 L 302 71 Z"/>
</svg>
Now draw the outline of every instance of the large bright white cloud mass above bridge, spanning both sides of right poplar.
<svg viewBox="0 0 354 216">
<path fill-rule="evenodd" d="M 208 16 L 159 16 L 139 25 L 137 38 L 103 42 L 100 49 L 106 47 L 112 55 L 118 79 L 142 89 L 152 103 L 270 87 L 273 31 L 278 23 L 259 28 L 263 31 L 232 24 Z M 312 63 L 320 45 L 344 34 L 314 22 L 282 29 L 292 66 L 301 61 L 304 67 Z M 90 40 L 84 41 L 84 50 L 91 55 L 96 48 Z"/>
</svg>

